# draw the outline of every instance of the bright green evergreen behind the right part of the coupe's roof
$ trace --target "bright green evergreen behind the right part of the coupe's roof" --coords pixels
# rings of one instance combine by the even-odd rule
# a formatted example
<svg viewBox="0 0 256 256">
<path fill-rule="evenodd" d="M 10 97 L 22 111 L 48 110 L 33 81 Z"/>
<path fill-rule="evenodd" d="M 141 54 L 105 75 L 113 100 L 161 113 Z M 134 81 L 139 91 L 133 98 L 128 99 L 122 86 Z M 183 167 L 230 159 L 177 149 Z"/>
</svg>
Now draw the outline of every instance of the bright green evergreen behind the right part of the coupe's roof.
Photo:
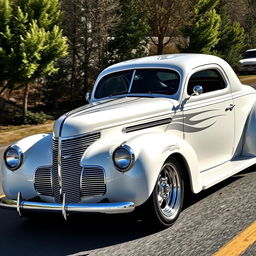
<svg viewBox="0 0 256 256">
<path fill-rule="evenodd" d="M 220 39 L 221 18 L 214 9 L 218 0 L 195 0 L 191 24 L 184 28 L 186 52 L 214 53 Z"/>
</svg>

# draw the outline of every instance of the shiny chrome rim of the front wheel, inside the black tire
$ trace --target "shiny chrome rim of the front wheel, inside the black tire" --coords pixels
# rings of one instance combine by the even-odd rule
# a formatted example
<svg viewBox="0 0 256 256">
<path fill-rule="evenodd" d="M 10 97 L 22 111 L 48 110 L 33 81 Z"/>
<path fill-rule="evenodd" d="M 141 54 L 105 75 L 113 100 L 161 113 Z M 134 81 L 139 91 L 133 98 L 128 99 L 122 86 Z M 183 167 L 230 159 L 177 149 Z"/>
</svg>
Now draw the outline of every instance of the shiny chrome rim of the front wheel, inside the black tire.
<svg viewBox="0 0 256 256">
<path fill-rule="evenodd" d="M 182 205 L 182 182 L 176 165 L 167 162 L 158 176 L 156 193 L 157 206 L 163 217 L 172 220 L 177 217 Z"/>
</svg>

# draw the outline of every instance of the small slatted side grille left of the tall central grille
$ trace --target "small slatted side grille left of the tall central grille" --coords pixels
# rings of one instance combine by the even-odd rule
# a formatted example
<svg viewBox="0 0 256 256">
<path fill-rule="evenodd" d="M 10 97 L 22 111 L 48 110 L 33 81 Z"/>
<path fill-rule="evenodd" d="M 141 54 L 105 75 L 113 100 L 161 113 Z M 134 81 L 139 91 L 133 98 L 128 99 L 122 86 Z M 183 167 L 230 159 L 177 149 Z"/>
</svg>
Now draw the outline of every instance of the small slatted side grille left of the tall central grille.
<svg viewBox="0 0 256 256">
<path fill-rule="evenodd" d="M 40 167 L 36 170 L 35 189 L 40 195 L 53 196 L 52 170 L 50 167 Z"/>
</svg>

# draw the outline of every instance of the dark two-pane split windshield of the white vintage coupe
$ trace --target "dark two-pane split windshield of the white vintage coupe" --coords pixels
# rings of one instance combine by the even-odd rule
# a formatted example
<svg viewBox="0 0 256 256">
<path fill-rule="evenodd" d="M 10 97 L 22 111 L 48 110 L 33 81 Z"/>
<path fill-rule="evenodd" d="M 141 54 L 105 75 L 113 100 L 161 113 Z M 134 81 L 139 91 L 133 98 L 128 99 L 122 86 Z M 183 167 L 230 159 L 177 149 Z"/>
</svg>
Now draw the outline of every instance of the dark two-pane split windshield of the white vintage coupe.
<svg viewBox="0 0 256 256">
<path fill-rule="evenodd" d="M 167 69 L 121 71 L 103 77 L 96 88 L 96 99 L 120 94 L 174 95 L 179 89 L 179 74 Z"/>
</svg>

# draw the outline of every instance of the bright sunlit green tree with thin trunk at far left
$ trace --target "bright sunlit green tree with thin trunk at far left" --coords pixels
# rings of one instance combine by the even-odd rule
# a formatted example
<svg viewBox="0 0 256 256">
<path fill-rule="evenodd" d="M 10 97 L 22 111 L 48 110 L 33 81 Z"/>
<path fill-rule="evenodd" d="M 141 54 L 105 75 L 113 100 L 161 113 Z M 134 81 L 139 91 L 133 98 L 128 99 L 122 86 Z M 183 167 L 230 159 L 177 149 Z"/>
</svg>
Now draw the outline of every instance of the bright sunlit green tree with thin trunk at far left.
<svg viewBox="0 0 256 256">
<path fill-rule="evenodd" d="M 29 84 L 56 72 L 67 53 L 61 16 L 58 0 L 0 0 L 0 68 L 10 88 L 24 87 L 24 115 Z"/>
</svg>

